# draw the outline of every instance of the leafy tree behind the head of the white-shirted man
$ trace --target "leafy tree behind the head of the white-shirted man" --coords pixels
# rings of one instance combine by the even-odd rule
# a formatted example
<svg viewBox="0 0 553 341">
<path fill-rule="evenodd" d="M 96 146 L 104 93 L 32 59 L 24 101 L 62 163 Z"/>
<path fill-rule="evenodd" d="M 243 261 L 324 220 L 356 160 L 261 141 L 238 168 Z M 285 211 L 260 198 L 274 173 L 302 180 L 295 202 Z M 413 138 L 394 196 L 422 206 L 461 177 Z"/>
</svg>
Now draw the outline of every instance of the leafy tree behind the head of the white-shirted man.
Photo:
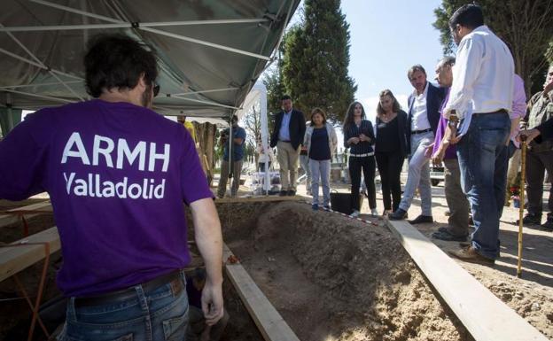
<svg viewBox="0 0 553 341">
<path fill-rule="evenodd" d="M 444 53 L 455 50 L 448 19 L 467 0 L 442 0 L 434 10 L 433 26 L 440 30 Z M 541 89 L 549 42 L 553 38 L 553 2 L 551 0 L 480 0 L 484 21 L 503 42 L 515 60 L 515 72 L 525 81 L 526 92 Z"/>
</svg>

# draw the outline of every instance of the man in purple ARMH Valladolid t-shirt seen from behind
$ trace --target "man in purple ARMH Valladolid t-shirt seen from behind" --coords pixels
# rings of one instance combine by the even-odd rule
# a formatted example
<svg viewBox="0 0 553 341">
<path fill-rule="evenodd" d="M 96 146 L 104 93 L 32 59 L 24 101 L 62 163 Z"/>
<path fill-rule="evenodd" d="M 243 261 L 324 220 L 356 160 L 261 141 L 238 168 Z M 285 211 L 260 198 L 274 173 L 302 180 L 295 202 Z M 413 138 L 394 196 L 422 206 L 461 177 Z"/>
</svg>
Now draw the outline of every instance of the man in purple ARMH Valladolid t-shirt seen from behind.
<svg viewBox="0 0 553 341">
<path fill-rule="evenodd" d="M 206 263 L 206 322 L 222 316 L 213 194 L 188 131 L 150 109 L 159 91 L 150 49 L 100 35 L 84 66 L 96 99 L 30 114 L 0 143 L 0 198 L 50 195 L 64 260 L 58 287 L 70 298 L 63 339 L 183 339 L 183 202 Z"/>
</svg>

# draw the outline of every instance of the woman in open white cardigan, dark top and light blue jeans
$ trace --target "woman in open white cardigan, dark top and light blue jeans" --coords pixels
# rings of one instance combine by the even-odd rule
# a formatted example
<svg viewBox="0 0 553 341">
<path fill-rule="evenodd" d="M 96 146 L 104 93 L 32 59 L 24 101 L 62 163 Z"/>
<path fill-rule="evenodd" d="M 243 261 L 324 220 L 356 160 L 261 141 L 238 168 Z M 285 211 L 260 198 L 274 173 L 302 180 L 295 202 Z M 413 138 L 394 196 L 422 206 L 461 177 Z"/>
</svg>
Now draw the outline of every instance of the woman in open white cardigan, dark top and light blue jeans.
<svg viewBox="0 0 553 341">
<path fill-rule="evenodd" d="M 313 109 L 311 124 L 306 129 L 303 145 L 308 150 L 312 208 L 315 211 L 319 209 L 319 182 L 323 185 L 323 208 L 331 208 L 331 159 L 337 144 L 338 137 L 334 127 L 326 121 L 323 109 Z"/>
</svg>

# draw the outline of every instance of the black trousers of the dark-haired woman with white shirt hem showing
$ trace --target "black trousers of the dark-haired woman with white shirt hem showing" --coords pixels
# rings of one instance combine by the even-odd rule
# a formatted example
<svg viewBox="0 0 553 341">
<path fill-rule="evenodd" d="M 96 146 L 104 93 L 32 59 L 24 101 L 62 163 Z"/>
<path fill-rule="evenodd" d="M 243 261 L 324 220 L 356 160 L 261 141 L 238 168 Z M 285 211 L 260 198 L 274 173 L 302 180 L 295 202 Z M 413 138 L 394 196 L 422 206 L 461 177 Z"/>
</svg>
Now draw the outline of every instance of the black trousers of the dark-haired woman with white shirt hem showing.
<svg viewBox="0 0 553 341">
<path fill-rule="evenodd" d="M 377 190 L 374 185 L 374 174 L 376 165 L 374 156 L 355 158 L 349 157 L 349 178 L 352 181 L 351 189 L 351 206 L 354 210 L 359 211 L 359 186 L 361 185 L 361 170 L 365 178 L 365 186 L 367 186 L 367 195 L 369 196 L 369 207 L 377 208 Z"/>
</svg>

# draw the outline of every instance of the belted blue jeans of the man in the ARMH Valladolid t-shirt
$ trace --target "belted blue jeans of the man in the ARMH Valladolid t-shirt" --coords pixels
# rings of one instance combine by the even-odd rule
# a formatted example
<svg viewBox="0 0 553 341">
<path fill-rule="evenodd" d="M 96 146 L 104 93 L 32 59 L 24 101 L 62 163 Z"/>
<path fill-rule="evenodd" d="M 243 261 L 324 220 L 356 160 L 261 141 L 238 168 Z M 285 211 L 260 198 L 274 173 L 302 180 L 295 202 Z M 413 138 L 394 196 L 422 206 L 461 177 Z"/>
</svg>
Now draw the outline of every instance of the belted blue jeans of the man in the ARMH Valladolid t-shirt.
<svg viewBox="0 0 553 341">
<path fill-rule="evenodd" d="M 150 292 L 133 287 L 136 297 L 98 306 L 67 302 L 66 324 L 60 341 L 183 341 L 188 326 L 186 280 L 183 285 L 163 284 Z"/>
</svg>

